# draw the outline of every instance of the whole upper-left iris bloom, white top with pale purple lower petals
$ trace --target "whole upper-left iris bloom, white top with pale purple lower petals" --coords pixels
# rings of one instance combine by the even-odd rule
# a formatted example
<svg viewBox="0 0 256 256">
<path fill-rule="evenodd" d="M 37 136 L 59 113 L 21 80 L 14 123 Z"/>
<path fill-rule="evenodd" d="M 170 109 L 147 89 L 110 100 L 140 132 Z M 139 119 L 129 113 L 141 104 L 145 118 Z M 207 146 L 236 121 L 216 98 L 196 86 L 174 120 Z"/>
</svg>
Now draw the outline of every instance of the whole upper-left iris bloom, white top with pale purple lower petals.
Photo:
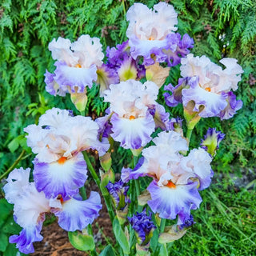
<svg viewBox="0 0 256 256">
<path fill-rule="evenodd" d="M 96 82 L 97 69 L 102 66 L 102 44 L 99 38 L 83 34 L 76 42 L 69 39 L 54 38 L 49 44 L 56 70 L 50 74 L 46 70 L 46 91 L 54 96 L 66 93 L 86 93 Z"/>
</svg>

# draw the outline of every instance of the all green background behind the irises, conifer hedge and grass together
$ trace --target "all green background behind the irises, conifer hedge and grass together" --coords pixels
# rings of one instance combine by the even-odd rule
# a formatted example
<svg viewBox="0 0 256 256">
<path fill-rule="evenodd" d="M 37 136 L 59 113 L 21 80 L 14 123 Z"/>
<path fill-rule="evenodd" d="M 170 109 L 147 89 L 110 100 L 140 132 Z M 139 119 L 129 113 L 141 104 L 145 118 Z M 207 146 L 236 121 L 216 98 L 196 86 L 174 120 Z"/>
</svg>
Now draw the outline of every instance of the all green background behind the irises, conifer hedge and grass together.
<svg viewBox="0 0 256 256">
<path fill-rule="evenodd" d="M 159 1 L 137 2 L 152 7 Z M 166 2 L 178 12 L 178 32 L 194 38 L 191 50 L 194 55 L 204 54 L 216 63 L 225 57 L 237 58 L 244 70 L 236 92 L 238 99 L 242 99 L 242 110 L 222 122 L 219 118 L 201 120 L 192 136 L 192 146 L 198 147 L 209 126 L 226 134 L 214 159 L 214 182 L 210 190 L 203 191 L 204 202 L 195 213 L 197 224 L 184 238 L 174 242 L 174 255 L 255 255 L 256 3 L 254 0 Z M 133 3 L 132 0 L 0 3 L 0 175 L 18 157 L 22 158 L 18 167 L 32 167 L 33 156 L 26 147 L 24 127 L 37 122 L 41 114 L 54 106 L 74 110 L 69 97 L 54 97 L 44 89 L 46 69 L 54 70 L 49 42 L 59 36 L 74 41 L 82 34 L 90 34 L 100 38 L 104 50 L 106 46 L 116 46 L 126 40 L 126 10 Z M 178 78 L 179 66 L 175 66 L 170 70 L 168 82 L 176 85 Z M 98 88 L 93 87 L 86 114 L 97 117 L 105 109 Z M 168 111 L 174 117 L 182 117 L 181 106 Z M 126 153 L 118 150 L 114 158 L 117 172 L 124 159 Z M 6 240 L 14 234 L 13 229 L 8 229 L 12 209 L 3 207 L 4 199 L 0 203 L 0 217 L 4 220 L 0 222 L 0 254 L 14 255 L 14 247 Z"/>
</svg>

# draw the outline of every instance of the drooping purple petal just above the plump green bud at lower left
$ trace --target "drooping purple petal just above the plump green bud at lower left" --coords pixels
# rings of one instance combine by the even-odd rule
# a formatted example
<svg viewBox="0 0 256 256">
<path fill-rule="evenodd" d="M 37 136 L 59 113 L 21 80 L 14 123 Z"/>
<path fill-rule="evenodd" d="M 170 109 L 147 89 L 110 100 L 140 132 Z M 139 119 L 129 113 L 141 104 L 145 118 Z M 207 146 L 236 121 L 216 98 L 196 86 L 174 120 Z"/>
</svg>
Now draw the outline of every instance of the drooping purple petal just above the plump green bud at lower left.
<svg viewBox="0 0 256 256">
<path fill-rule="evenodd" d="M 83 230 L 94 222 L 101 209 L 101 198 L 97 192 L 92 191 L 87 200 L 79 201 L 71 198 L 62 202 L 62 209 L 53 209 L 52 212 L 58 217 L 58 225 L 63 230 L 75 231 Z"/>
</svg>

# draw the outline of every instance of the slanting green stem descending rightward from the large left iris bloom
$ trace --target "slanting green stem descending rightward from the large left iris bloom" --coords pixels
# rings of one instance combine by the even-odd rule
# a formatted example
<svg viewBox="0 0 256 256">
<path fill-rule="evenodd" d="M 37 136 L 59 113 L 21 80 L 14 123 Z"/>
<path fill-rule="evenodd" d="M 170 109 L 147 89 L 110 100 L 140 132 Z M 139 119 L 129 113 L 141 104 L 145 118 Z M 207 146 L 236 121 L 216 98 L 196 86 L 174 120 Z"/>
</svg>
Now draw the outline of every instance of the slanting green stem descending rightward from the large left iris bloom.
<svg viewBox="0 0 256 256">
<path fill-rule="evenodd" d="M 90 170 L 90 174 L 94 178 L 94 182 L 96 182 L 98 188 L 101 190 L 101 181 L 98 178 L 98 175 L 96 174 L 96 171 L 94 170 L 94 166 L 92 166 L 92 164 L 90 162 L 90 159 L 89 159 L 89 156 L 88 156 L 87 152 L 83 151 L 82 154 L 83 154 L 84 159 L 86 160 L 86 164 L 87 164 L 88 169 Z M 112 206 L 111 206 L 110 195 L 106 195 L 106 194 L 103 194 L 103 193 L 102 193 L 102 195 L 103 195 L 103 198 L 106 202 L 106 209 L 107 209 L 107 211 L 110 215 L 110 220 L 111 220 L 111 222 L 113 222 L 113 220 L 114 220 L 114 211 L 113 211 Z"/>
</svg>

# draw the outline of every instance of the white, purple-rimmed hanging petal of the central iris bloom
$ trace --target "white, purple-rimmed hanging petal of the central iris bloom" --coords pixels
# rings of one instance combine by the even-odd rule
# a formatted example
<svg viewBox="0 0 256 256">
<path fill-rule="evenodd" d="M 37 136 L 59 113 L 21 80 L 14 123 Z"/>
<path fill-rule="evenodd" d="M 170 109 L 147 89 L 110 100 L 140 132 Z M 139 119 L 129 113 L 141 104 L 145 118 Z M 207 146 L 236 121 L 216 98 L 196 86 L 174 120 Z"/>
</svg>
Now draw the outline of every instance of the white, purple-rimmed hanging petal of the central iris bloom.
<svg viewBox="0 0 256 256">
<path fill-rule="evenodd" d="M 150 135 L 154 132 L 154 118 L 147 114 L 146 117 L 119 118 L 118 114 L 111 117 L 113 134 L 110 134 L 115 141 L 121 142 L 125 149 L 138 150 L 145 146 L 152 139 Z"/>
</svg>

